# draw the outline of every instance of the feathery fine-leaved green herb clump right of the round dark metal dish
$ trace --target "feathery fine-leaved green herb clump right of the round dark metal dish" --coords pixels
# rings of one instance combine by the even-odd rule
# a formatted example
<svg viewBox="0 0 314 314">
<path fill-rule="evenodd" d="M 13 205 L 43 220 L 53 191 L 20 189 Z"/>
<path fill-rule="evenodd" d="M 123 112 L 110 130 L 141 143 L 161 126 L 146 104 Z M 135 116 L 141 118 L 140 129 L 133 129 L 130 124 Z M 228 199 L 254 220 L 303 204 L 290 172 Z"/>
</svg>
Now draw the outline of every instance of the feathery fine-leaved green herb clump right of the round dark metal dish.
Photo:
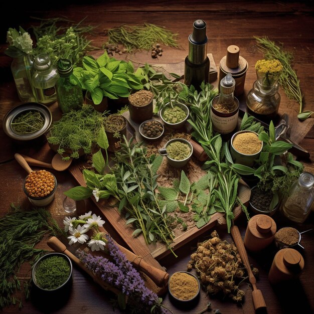
<svg viewBox="0 0 314 314">
<path fill-rule="evenodd" d="M 50 144 L 57 145 L 61 155 L 71 149 L 71 157 L 79 158 L 79 150 L 90 153 L 102 130 L 106 112 L 100 113 L 91 105 L 83 104 L 80 110 L 63 114 L 59 121 L 52 124 L 47 134 Z M 100 136 L 100 135 L 99 135 Z M 69 157 L 64 157 L 65 160 Z"/>
</svg>

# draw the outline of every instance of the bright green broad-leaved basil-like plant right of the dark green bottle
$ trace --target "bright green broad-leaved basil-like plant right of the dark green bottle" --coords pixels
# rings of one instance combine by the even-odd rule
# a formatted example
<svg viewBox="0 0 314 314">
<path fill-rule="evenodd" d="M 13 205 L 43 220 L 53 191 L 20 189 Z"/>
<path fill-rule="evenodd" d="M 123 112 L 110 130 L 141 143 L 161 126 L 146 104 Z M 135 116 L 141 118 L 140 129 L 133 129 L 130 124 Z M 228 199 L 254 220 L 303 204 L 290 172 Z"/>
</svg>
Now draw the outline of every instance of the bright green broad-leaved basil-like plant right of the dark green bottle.
<svg viewBox="0 0 314 314">
<path fill-rule="evenodd" d="M 92 56 L 84 56 L 83 67 L 76 67 L 73 73 L 79 79 L 82 89 L 90 93 L 95 105 L 103 97 L 128 97 L 130 90 L 143 88 L 142 75 L 134 72 L 132 62 L 109 58 L 106 51 L 97 60 Z"/>
</svg>

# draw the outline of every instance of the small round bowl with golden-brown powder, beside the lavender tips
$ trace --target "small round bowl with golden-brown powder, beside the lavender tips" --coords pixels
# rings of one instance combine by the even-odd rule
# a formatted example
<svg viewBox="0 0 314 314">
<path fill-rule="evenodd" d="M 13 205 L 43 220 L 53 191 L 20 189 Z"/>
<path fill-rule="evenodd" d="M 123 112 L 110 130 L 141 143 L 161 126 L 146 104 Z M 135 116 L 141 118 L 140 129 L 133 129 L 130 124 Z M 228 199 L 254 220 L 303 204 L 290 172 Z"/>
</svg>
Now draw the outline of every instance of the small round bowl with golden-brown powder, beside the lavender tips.
<svg viewBox="0 0 314 314">
<path fill-rule="evenodd" d="M 179 275 L 183 275 L 184 277 L 178 278 Z M 188 276 L 191 276 L 191 278 Z M 187 279 L 185 279 L 185 277 Z M 192 282 L 193 284 L 191 285 Z M 169 278 L 169 293 L 176 301 L 179 302 L 187 303 L 195 300 L 200 293 L 200 288 L 201 285 L 197 276 L 188 271 L 177 271 Z M 186 294 L 191 294 L 191 297 L 187 298 Z"/>
</svg>

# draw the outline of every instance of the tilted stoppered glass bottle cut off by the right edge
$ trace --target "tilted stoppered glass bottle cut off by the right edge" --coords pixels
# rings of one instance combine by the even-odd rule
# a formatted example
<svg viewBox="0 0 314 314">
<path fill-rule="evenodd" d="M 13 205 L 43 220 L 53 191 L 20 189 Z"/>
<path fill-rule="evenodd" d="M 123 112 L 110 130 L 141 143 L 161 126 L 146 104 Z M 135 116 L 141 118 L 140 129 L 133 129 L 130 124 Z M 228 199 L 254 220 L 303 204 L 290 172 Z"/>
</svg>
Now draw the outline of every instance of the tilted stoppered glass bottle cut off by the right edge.
<svg viewBox="0 0 314 314">
<path fill-rule="evenodd" d="M 308 172 L 300 174 L 290 190 L 288 197 L 282 202 L 282 212 L 285 217 L 296 223 L 303 223 L 310 213 L 314 200 L 314 176 Z"/>
</svg>

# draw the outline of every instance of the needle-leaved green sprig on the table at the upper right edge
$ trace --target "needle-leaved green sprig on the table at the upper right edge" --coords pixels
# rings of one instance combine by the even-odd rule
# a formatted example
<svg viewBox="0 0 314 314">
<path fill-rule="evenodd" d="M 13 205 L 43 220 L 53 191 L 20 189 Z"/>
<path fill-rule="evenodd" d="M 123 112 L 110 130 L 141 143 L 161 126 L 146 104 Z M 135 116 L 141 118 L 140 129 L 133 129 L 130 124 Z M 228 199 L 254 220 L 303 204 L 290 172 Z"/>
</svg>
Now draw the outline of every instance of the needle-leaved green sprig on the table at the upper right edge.
<svg viewBox="0 0 314 314">
<path fill-rule="evenodd" d="M 302 112 L 303 95 L 300 88 L 300 81 L 297 78 L 295 70 L 293 70 L 291 63 L 293 61 L 293 54 L 282 50 L 275 42 L 270 41 L 267 37 L 254 37 L 257 41 L 257 46 L 264 53 L 266 59 L 278 59 L 283 65 L 283 71 L 279 78 L 279 82 L 288 98 L 296 100 L 300 107 L 299 113 Z"/>
</svg>

